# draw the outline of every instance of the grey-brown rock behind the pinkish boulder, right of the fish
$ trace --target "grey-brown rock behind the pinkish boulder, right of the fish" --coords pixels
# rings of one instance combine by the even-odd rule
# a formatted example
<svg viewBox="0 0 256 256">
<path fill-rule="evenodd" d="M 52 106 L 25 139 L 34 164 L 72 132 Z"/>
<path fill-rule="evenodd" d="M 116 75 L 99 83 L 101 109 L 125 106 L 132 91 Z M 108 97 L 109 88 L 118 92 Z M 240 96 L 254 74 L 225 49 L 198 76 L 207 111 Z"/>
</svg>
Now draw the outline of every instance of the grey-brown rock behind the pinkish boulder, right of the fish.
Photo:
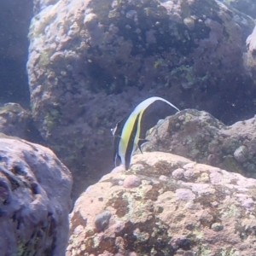
<svg viewBox="0 0 256 256">
<path fill-rule="evenodd" d="M 256 118 L 226 126 L 203 111 L 183 110 L 148 132 L 143 151 L 182 155 L 256 177 Z"/>
</svg>

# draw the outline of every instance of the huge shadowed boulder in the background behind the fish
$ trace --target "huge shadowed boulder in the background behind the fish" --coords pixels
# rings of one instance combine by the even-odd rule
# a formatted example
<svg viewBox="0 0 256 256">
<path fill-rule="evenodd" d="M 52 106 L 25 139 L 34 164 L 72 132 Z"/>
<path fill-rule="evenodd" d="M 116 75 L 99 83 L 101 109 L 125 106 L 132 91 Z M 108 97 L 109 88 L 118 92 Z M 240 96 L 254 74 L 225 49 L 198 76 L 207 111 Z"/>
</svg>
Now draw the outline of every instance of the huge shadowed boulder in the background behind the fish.
<svg viewBox="0 0 256 256">
<path fill-rule="evenodd" d="M 227 121 L 253 108 L 248 97 L 255 88 L 250 81 L 243 81 L 247 90 L 241 86 L 241 27 L 224 4 L 49 2 L 55 3 L 36 1 L 41 11 L 29 34 L 32 112 L 41 135 L 78 181 L 85 172 L 110 170 L 109 129 L 148 96 Z"/>
</svg>

